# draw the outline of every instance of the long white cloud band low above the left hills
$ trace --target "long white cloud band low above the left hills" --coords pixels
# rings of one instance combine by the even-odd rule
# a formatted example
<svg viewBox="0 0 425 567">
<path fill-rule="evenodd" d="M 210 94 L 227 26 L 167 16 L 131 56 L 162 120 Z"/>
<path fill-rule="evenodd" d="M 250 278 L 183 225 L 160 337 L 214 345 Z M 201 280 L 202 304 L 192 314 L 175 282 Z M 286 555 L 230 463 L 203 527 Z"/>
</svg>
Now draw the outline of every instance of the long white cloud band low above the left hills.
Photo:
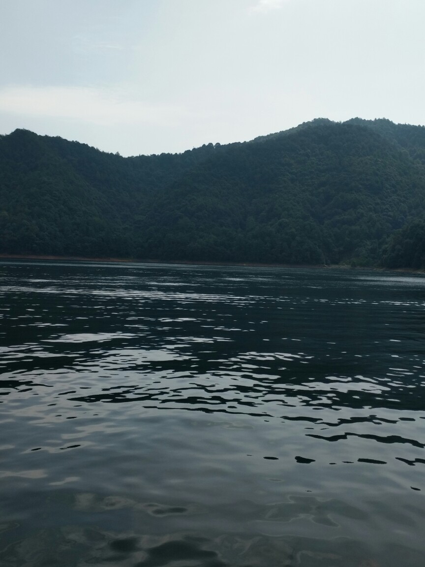
<svg viewBox="0 0 425 567">
<path fill-rule="evenodd" d="M 7 86 L 0 88 L 0 112 L 78 120 L 99 125 L 180 124 L 184 108 L 131 100 L 120 88 Z"/>
</svg>

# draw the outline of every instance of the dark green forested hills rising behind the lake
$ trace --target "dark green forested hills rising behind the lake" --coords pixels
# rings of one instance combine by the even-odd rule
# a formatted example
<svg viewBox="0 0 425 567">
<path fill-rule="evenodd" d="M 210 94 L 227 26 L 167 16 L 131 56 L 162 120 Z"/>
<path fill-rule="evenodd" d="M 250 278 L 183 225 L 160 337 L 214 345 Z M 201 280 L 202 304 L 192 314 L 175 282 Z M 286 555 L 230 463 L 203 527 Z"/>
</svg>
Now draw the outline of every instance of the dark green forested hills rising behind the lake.
<svg viewBox="0 0 425 567">
<path fill-rule="evenodd" d="M 123 158 L 0 137 L 0 253 L 425 267 L 425 128 L 317 119 Z"/>
</svg>

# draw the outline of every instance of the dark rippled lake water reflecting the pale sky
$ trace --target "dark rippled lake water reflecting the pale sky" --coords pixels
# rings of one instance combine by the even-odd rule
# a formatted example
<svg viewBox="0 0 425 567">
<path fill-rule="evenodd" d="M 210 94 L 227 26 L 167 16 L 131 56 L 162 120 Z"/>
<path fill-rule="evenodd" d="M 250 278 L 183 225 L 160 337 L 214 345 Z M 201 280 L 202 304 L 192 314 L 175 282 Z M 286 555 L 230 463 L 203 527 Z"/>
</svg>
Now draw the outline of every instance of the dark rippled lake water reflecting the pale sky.
<svg viewBox="0 0 425 567">
<path fill-rule="evenodd" d="M 423 567 L 425 278 L 0 264 L 0 564 Z"/>
</svg>

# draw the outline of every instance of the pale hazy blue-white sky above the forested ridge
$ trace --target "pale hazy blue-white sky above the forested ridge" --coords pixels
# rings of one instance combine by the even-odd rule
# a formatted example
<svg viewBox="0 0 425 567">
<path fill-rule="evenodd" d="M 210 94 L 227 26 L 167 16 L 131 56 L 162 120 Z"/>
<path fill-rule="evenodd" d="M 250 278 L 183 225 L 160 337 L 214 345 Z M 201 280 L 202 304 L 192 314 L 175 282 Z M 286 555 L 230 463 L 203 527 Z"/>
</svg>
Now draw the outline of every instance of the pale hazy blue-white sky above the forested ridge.
<svg viewBox="0 0 425 567">
<path fill-rule="evenodd" d="M 0 0 L 0 134 L 121 155 L 425 124 L 424 0 Z"/>
</svg>

